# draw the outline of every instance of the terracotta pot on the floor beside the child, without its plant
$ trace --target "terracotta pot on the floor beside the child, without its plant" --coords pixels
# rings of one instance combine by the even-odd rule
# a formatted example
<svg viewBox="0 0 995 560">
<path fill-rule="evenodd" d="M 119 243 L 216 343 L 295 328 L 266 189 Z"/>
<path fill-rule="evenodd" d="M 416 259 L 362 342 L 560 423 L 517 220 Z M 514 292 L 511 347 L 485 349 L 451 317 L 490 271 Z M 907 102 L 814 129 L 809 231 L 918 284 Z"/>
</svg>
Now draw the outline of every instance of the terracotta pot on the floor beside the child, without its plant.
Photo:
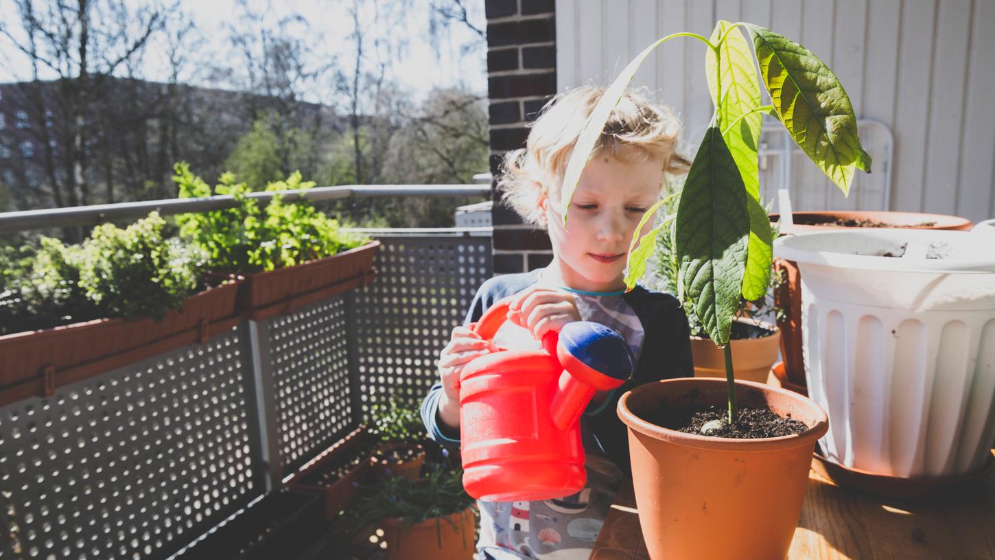
<svg viewBox="0 0 995 560">
<path fill-rule="evenodd" d="M 473 507 L 415 525 L 384 518 L 387 560 L 468 560 L 474 555 L 476 523 Z"/>
</svg>

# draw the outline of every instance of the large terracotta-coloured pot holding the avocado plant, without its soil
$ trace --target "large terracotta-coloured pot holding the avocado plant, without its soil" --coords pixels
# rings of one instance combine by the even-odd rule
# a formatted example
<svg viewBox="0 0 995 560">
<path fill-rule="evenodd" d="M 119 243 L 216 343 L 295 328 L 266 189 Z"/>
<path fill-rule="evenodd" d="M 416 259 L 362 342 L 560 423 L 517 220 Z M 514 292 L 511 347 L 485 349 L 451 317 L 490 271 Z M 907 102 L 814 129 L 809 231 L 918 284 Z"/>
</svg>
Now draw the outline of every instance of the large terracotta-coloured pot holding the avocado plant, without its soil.
<svg viewBox="0 0 995 560">
<path fill-rule="evenodd" d="M 668 379 L 619 400 L 651 558 L 782 560 L 787 555 L 812 452 L 828 428 L 826 413 L 797 393 L 749 381 L 736 382 L 736 399 L 741 408 L 767 406 L 809 429 L 781 438 L 730 440 L 654 423 L 669 407 L 724 405 L 726 386 L 720 379 Z"/>
</svg>

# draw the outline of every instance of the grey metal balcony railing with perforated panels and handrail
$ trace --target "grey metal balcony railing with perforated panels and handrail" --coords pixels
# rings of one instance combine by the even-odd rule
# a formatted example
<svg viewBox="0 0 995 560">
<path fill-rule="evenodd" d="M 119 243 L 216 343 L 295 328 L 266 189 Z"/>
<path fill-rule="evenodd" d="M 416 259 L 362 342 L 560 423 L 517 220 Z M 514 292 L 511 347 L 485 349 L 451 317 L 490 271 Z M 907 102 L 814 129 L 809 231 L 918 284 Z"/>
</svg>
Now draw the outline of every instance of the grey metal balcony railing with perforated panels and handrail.
<svg viewBox="0 0 995 560">
<path fill-rule="evenodd" d="M 418 194 L 488 187 L 442 191 Z M 155 202 L 9 213 L 0 231 L 218 203 Z M 366 287 L 0 408 L 0 560 L 167 558 L 279 487 L 373 404 L 420 399 L 492 276 L 490 230 L 366 233 L 382 243 Z"/>
</svg>

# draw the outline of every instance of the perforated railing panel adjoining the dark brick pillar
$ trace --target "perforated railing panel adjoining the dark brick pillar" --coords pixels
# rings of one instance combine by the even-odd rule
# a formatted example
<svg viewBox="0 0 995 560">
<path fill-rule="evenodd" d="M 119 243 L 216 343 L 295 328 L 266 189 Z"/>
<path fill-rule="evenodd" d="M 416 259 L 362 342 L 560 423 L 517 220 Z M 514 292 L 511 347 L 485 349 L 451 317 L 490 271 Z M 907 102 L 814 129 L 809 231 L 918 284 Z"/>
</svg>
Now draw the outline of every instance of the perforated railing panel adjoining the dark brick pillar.
<svg viewBox="0 0 995 560">
<path fill-rule="evenodd" d="M 417 404 L 436 360 L 493 276 L 491 237 L 377 236 L 377 278 L 356 292 L 356 353 L 364 415 L 394 395 Z"/>
</svg>

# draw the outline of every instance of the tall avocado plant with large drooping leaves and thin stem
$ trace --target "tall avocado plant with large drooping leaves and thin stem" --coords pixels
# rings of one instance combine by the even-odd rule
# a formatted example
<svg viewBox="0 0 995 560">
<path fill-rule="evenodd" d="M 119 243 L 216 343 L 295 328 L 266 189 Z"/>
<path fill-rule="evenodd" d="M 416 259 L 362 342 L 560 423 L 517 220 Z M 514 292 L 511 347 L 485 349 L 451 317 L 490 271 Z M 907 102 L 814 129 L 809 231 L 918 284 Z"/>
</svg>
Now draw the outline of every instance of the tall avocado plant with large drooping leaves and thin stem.
<svg viewBox="0 0 995 560">
<path fill-rule="evenodd" d="M 675 33 L 656 41 L 604 93 L 567 163 L 564 227 L 570 198 L 612 109 L 650 53 L 678 37 L 697 39 L 706 47 L 704 69 L 714 112 L 698 145 L 677 213 L 640 237 L 646 223 L 666 204 L 665 198 L 646 212 L 636 229 L 625 281 L 632 289 L 642 278 L 657 234 L 676 220 L 681 266 L 678 296 L 693 307 L 712 342 L 723 348 L 727 420 L 735 424 L 728 344 L 732 319 L 740 298 L 757 299 L 766 292 L 773 254 L 769 218 L 759 200 L 757 146 L 763 114 L 776 117 L 844 195 L 850 193 L 856 169 L 871 172 L 871 156 L 861 146 L 850 97 L 818 57 L 769 29 L 719 21 L 707 39 L 695 33 Z M 760 82 L 770 94 L 770 104 L 761 104 Z"/>
</svg>

